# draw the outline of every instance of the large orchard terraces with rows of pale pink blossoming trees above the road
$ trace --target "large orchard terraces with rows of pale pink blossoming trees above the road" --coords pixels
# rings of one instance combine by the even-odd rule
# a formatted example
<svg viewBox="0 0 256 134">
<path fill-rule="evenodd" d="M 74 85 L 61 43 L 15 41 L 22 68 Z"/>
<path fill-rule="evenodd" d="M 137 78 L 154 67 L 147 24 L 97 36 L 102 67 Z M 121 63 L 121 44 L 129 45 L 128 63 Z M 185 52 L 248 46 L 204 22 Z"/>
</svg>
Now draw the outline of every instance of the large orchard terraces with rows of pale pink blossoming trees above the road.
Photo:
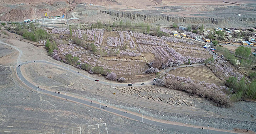
<svg viewBox="0 0 256 134">
<path fill-rule="evenodd" d="M 132 31 L 109 32 L 105 29 L 54 28 L 48 29 L 48 33 L 55 34 L 55 40 L 59 42 L 58 50 L 52 54 L 54 59 L 67 62 L 66 56 L 71 54 L 79 59 L 73 63 L 77 68 L 89 64 L 129 79 L 144 77 L 145 70 L 150 67 L 161 69 L 187 64 L 189 61 L 202 63 L 211 57 L 206 49 L 193 42 L 168 36 L 157 37 Z M 66 37 L 69 35 L 80 42 L 68 41 Z M 40 44 L 44 42 L 39 41 Z"/>
</svg>

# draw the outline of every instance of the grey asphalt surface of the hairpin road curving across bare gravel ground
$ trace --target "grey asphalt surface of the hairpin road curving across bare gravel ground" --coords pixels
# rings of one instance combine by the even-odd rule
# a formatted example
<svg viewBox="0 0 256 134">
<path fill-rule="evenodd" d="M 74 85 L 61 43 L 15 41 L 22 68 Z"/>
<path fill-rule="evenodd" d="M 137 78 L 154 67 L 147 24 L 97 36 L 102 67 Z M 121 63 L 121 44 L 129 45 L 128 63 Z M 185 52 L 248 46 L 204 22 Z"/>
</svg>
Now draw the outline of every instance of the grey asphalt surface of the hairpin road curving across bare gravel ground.
<svg viewBox="0 0 256 134">
<path fill-rule="evenodd" d="M 8 45 L 8 46 L 11 46 L 11 47 L 17 49 L 16 47 L 14 47 L 14 46 L 12 46 L 10 44 L 6 44 L 6 43 L 4 43 L 2 41 L 0 41 L 0 43 Z M 17 63 L 19 63 L 22 51 L 20 51 L 19 49 L 17 49 L 17 50 L 20 52 L 20 55 L 19 55 L 19 57 L 17 59 Z M 28 63 L 33 63 L 33 62 L 34 61 L 30 61 Z M 44 60 L 37 60 L 36 62 L 40 62 L 40 63 L 44 63 L 44 64 L 56 65 L 57 67 L 61 67 L 62 69 L 68 70 L 67 67 L 62 66 L 62 65 L 58 65 L 58 64 L 54 64 L 52 62 L 47 62 L 47 61 L 44 61 Z M 27 62 L 21 63 L 19 65 L 22 66 L 24 64 L 27 64 Z M 16 67 L 16 70 L 17 70 L 17 75 L 19 76 L 19 78 L 22 81 L 22 83 L 24 83 L 25 85 L 27 85 L 28 87 L 30 87 L 30 88 L 32 88 L 32 89 L 34 89 L 36 91 L 37 87 L 35 85 L 33 85 L 32 83 L 30 83 L 27 79 L 24 78 L 24 76 L 21 73 L 20 67 Z M 83 74 L 79 74 L 75 70 L 69 69 L 69 71 L 71 71 L 73 73 L 76 73 L 77 75 L 80 75 L 81 77 L 88 78 L 88 76 L 85 76 Z M 94 80 L 93 78 L 90 78 L 90 77 L 89 77 L 89 79 L 90 80 Z M 102 81 L 101 83 L 107 84 L 107 85 L 116 85 L 115 83 L 108 83 L 108 82 L 104 82 L 104 81 Z M 150 82 L 150 83 L 152 83 L 152 82 Z M 150 84 L 150 83 L 147 83 L 147 84 Z M 140 84 L 138 84 L 138 85 L 140 85 Z M 118 84 L 118 86 L 123 86 L 123 84 Z M 69 100 L 69 101 L 74 101 L 74 102 L 81 103 L 81 104 L 84 104 L 84 105 L 87 105 L 87 106 L 91 106 L 91 107 L 94 107 L 94 108 L 101 109 L 99 104 L 96 104 L 96 103 L 92 103 L 91 104 L 89 101 L 86 101 L 86 100 L 83 100 L 83 99 L 79 99 L 79 98 L 75 98 L 75 97 L 69 96 L 69 95 L 65 96 L 63 93 L 62 94 L 57 94 L 57 93 L 54 93 L 54 92 L 48 91 L 48 90 L 39 90 L 39 92 L 44 93 L 46 95 L 55 96 L 57 98 L 61 98 L 61 99 L 64 99 L 64 100 L 67 98 L 67 100 Z M 168 129 L 180 129 L 181 131 L 182 130 L 192 131 L 193 133 L 206 133 L 207 132 L 206 127 L 205 127 L 204 130 L 202 130 L 198 126 L 197 127 L 188 127 L 188 126 L 179 126 L 179 125 L 175 125 L 175 124 L 162 123 L 162 122 L 153 121 L 153 120 L 150 120 L 150 119 L 147 119 L 147 118 L 143 118 L 142 115 L 141 116 L 137 116 L 137 115 L 130 114 L 130 113 L 124 113 L 124 111 L 120 111 L 120 110 L 114 109 L 114 108 L 105 107 L 104 111 L 109 112 L 109 113 L 115 113 L 115 114 L 117 114 L 119 116 L 123 116 L 123 117 L 126 117 L 126 118 L 130 118 L 130 119 L 133 119 L 133 120 L 136 120 L 136 121 L 140 121 L 140 122 L 143 122 L 143 123 L 146 123 L 146 124 L 150 124 L 150 125 L 154 125 L 154 126 L 158 126 L 158 127 L 165 127 L 165 128 L 168 128 Z M 234 132 L 226 132 L 226 131 L 223 131 L 221 129 L 217 130 L 217 129 L 214 129 L 214 128 L 210 128 L 208 132 L 210 134 L 232 134 L 232 133 L 234 133 Z"/>
</svg>

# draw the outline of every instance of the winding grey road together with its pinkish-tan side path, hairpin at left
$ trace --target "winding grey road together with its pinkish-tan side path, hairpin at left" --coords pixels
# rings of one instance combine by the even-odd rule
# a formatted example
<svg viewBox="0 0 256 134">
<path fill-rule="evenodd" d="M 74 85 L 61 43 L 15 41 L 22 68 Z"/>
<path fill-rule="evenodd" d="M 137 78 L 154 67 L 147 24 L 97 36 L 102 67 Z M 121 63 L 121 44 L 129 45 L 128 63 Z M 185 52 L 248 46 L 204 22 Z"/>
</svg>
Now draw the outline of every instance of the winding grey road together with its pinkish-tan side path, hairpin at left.
<svg viewBox="0 0 256 134">
<path fill-rule="evenodd" d="M 94 80 L 93 78 L 91 77 L 88 77 L 88 76 L 85 76 L 83 74 L 79 74 L 77 73 L 77 71 L 75 70 L 72 70 L 72 69 L 69 69 L 65 66 L 62 66 L 62 65 L 59 65 L 59 64 L 55 64 L 55 63 L 52 63 L 52 62 L 48 62 L 48 61 L 44 61 L 44 60 L 36 60 L 35 62 L 34 61 L 29 61 L 29 62 L 23 62 L 23 63 L 20 63 L 20 56 L 22 54 L 22 51 L 20 51 L 17 47 L 14 47 L 10 44 L 6 44 L 2 41 L 0 41 L 1 44 L 5 44 L 5 45 L 8 45 L 8 46 L 11 46 L 15 49 L 17 49 L 19 52 L 20 52 L 20 55 L 17 59 L 17 66 L 18 64 L 20 65 L 20 67 L 24 64 L 29 64 L 29 63 L 44 63 L 44 64 L 51 64 L 51 65 L 55 65 L 57 67 L 61 67 L 62 69 L 65 69 L 67 71 L 70 71 L 76 75 L 79 75 L 81 77 L 84 77 L 84 78 L 88 78 L 89 80 Z M 79 98 L 77 96 L 71 96 L 71 95 L 65 95 L 65 93 L 61 93 L 61 94 L 58 94 L 58 93 L 54 93 L 50 90 L 42 90 L 42 89 L 38 89 L 35 85 L 33 85 L 32 83 L 30 83 L 23 75 L 22 75 L 22 72 L 21 72 L 21 69 L 20 67 L 15 67 L 16 68 L 16 73 L 17 73 L 17 77 L 21 80 L 22 83 L 24 83 L 25 85 L 27 85 L 29 88 L 32 88 L 33 91 L 35 92 L 38 92 L 38 93 L 43 93 L 45 95 L 49 95 L 49 96 L 52 96 L 52 97 L 55 97 L 55 98 L 59 98 L 59 99 L 62 99 L 62 100 L 67 100 L 67 101 L 72 101 L 72 102 L 76 102 L 76 103 L 80 103 L 80 104 L 83 104 L 83 105 L 86 105 L 86 106 L 90 106 L 90 107 L 93 107 L 93 108 L 97 108 L 97 109 L 102 109 L 104 107 L 104 111 L 106 112 L 109 112 L 109 113 L 112 113 L 112 114 L 115 114 L 115 115 L 118 115 L 118 116 L 121 116 L 121 117 L 125 117 L 125 118 L 128 118 L 128 119 L 133 119 L 135 121 L 140 121 L 140 122 L 143 122 L 143 123 L 146 123 L 146 124 L 150 124 L 150 125 L 154 125 L 154 126 L 158 126 L 158 127 L 164 127 L 164 128 L 168 128 L 168 129 L 179 129 L 179 130 L 186 130 L 186 131 L 191 131 L 193 133 L 206 133 L 207 131 L 210 133 L 210 134 L 234 134 L 236 132 L 234 131 L 227 131 L 227 130 L 222 130 L 222 129 L 216 129 L 216 128 L 211 128 L 209 127 L 209 130 L 207 130 L 206 126 L 204 126 L 204 130 L 202 130 L 202 126 L 192 126 L 192 125 L 180 125 L 182 123 L 175 123 L 175 122 L 171 122 L 171 121 L 164 121 L 164 120 L 158 120 L 158 119 L 153 119 L 153 118 L 149 118 L 149 117 L 145 117 L 143 115 L 139 116 L 138 114 L 133 114 L 132 112 L 128 111 L 127 113 L 124 113 L 124 110 L 120 110 L 118 108 L 115 108 L 113 106 L 111 107 L 105 107 L 105 106 L 102 106 L 101 105 L 101 102 L 99 103 L 90 103 L 90 101 L 88 100 L 85 100 L 83 98 Z M 109 82 L 106 82 L 106 81 L 101 81 L 102 84 L 106 84 L 106 85 L 116 85 L 115 83 L 109 83 Z M 152 81 L 150 82 L 152 83 Z M 147 84 L 150 84 L 150 83 L 147 83 Z M 126 86 L 126 84 L 117 84 L 118 86 Z M 137 84 L 136 86 L 140 86 L 140 84 Z M 38 89 L 38 90 L 37 90 Z"/>
</svg>

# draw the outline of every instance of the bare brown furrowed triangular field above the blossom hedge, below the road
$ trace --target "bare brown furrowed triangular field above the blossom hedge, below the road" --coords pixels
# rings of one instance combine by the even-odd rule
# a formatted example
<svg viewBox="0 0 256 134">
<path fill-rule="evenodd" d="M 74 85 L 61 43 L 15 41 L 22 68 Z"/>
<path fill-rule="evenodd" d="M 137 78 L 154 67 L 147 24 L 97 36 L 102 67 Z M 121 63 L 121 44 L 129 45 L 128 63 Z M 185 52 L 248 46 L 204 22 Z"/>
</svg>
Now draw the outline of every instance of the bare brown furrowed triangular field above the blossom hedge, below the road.
<svg viewBox="0 0 256 134">
<path fill-rule="evenodd" d="M 185 67 L 179 68 L 176 70 L 171 70 L 169 74 L 173 74 L 175 76 L 180 77 L 190 77 L 193 80 L 205 81 L 207 83 L 214 83 L 216 85 L 224 85 L 218 77 L 216 77 L 211 70 L 209 70 L 206 66 L 198 66 L 198 67 Z"/>
</svg>

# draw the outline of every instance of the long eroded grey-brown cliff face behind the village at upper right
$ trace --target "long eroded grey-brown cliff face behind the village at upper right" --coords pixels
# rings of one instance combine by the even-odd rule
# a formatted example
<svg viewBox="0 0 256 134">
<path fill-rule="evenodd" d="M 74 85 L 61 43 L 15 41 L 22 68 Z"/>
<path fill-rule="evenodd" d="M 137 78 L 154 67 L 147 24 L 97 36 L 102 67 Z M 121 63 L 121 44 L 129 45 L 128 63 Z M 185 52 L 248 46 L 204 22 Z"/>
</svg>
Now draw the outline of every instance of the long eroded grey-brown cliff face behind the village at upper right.
<svg viewBox="0 0 256 134">
<path fill-rule="evenodd" d="M 139 13 L 128 13 L 128 12 L 115 12 L 115 11 L 100 11 L 101 13 L 109 14 L 114 18 L 115 21 L 120 21 L 123 18 L 129 18 L 132 21 L 144 21 L 145 23 L 155 23 L 159 20 L 167 20 L 169 22 L 179 23 L 212 23 L 215 25 L 223 25 L 230 22 L 243 21 L 246 23 L 256 23 L 256 18 L 245 18 L 245 17 L 226 17 L 226 18 L 211 18 L 211 17 L 182 17 L 182 16 L 168 16 L 168 15 L 142 15 Z"/>
</svg>

